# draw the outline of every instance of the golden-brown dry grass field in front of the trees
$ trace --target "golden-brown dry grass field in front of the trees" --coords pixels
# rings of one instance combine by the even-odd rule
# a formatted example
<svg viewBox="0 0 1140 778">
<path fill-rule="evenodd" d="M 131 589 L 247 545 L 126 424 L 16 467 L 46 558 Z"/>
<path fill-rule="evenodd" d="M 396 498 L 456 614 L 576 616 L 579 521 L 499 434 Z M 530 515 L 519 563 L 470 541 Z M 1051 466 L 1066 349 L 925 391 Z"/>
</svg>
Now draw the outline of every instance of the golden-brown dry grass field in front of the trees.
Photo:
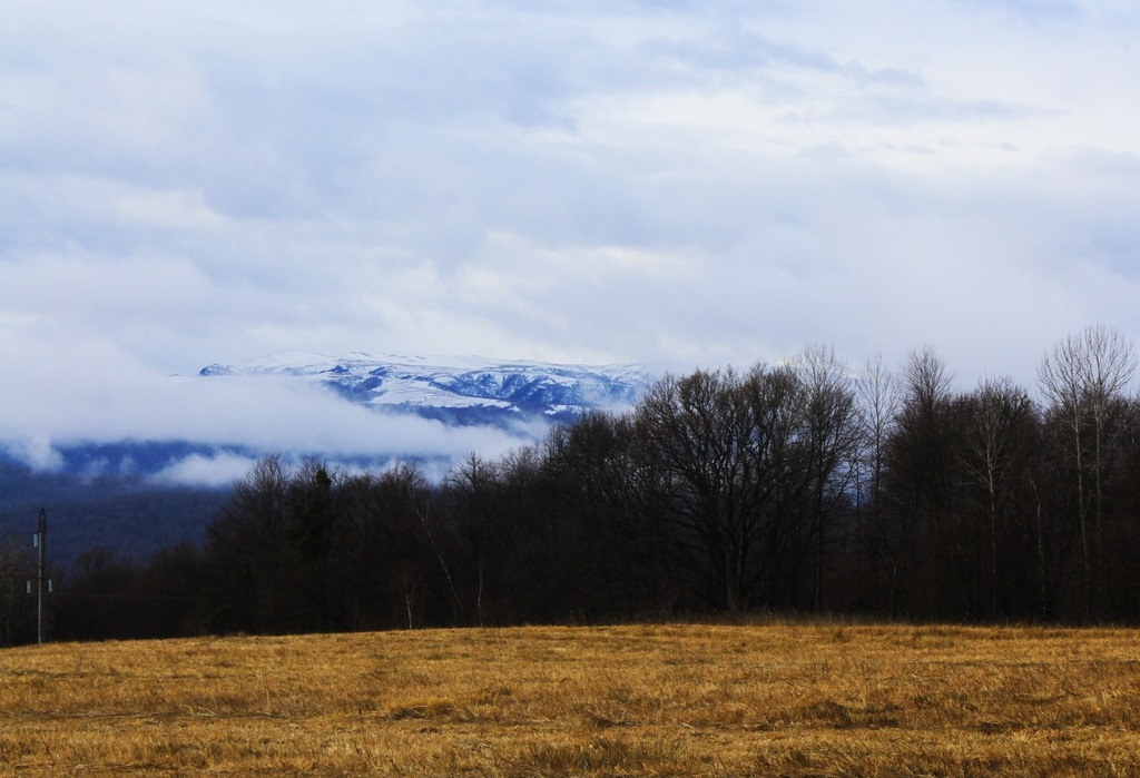
<svg viewBox="0 0 1140 778">
<path fill-rule="evenodd" d="M 1140 776 L 1126 630 L 645 625 L 0 652 L 0 775 Z"/>
</svg>

